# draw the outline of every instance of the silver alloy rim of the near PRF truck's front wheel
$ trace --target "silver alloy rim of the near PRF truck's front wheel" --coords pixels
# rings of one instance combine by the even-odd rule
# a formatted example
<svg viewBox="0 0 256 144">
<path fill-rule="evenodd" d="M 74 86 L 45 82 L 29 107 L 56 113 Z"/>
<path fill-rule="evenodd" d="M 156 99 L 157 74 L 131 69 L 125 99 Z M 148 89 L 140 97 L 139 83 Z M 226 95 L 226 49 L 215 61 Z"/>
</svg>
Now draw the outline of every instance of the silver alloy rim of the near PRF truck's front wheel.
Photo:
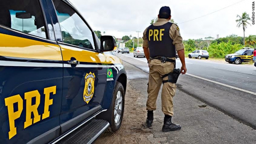
<svg viewBox="0 0 256 144">
<path fill-rule="evenodd" d="M 121 91 L 118 91 L 116 94 L 115 109 L 114 109 L 114 119 L 116 124 L 120 122 L 122 109 L 123 109 L 123 95 Z"/>
</svg>

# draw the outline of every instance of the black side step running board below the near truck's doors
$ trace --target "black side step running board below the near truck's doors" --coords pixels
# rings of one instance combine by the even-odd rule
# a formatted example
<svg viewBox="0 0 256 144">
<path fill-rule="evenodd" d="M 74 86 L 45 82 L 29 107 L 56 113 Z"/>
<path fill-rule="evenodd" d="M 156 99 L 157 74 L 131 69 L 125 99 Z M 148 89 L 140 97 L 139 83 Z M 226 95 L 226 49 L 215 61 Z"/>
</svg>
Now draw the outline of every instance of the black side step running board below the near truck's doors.
<svg viewBox="0 0 256 144">
<path fill-rule="evenodd" d="M 95 141 L 101 133 L 108 129 L 109 123 L 106 120 L 93 118 L 83 126 L 76 129 L 57 144 L 90 144 Z"/>
</svg>

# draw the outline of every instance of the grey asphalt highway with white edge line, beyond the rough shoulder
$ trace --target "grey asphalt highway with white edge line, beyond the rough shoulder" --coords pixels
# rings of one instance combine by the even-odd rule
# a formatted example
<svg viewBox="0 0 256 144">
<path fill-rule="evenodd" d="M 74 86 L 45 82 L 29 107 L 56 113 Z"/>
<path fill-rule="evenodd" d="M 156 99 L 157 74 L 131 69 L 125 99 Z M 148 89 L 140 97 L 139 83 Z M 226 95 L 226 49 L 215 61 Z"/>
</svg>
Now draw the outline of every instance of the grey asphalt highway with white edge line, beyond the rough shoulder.
<svg viewBox="0 0 256 144">
<path fill-rule="evenodd" d="M 133 53 L 116 55 L 148 72 L 146 58 L 133 57 Z M 177 82 L 180 91 L 256 129 L 256 68 L 253 65 L 188 58 L 186 65 L 188 74 L 181 75 Z M 176 66 L 181 66 L 179 59 Z"/>
</svg>

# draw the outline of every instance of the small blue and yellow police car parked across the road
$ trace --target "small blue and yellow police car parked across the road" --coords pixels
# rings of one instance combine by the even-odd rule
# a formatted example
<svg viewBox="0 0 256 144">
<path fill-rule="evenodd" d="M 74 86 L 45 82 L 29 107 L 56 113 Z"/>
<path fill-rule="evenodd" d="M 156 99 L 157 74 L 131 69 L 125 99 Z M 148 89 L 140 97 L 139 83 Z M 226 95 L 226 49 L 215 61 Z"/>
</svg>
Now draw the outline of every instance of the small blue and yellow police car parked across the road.
<svg viewBox="0 0 256 144">
<path fill-rule="evenodd" d="M 243 48 L 235 52 L 234 54 L 228 54 L 225 56 L 225 61 L 232 64 L 241 64 L 242 62 L 249 62 L 253 60 L 253 49 Z"/>
</svg>

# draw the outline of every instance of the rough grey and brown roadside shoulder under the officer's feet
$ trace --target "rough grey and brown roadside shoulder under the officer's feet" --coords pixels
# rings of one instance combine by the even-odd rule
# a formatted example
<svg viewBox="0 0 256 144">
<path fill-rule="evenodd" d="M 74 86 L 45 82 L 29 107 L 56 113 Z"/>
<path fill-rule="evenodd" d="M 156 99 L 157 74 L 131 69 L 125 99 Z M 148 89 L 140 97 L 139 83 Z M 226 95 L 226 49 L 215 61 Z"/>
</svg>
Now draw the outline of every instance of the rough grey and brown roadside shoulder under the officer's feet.
<svg viewBox="0 0 256 144">
<path fill-rule="evenodd" d="M 141 63 L 144 62 L 130 58 L 125 60 L 143 67 Z M 142 123 L 145 123 L 147 116 L 148 73 L 126 62 L 123 64 L 127 72 L 128 81 L 122 126 L 116 133 L 102 134 L 95 144 L 256 143 L 256 130 L 211 106 L 207 106 L 204 102 L 181 91 L 180 88 L 176 90 L 176 94 L 173 97 L 174 116 L 172 117 L 172 122 L 180 124 L 182 126 L 181 130 L 174 132 L 161 131 L 164 121 L 164 114 L 161 110 L 161 93 L 159 93 L 156 101 L 157 108 L 154 111 L 153 129 L 143 127 Z M 182 82 L 180 81 L 180 83 Z M 201 107 L 202 105 L 205 107 Z"/>
</svg>

